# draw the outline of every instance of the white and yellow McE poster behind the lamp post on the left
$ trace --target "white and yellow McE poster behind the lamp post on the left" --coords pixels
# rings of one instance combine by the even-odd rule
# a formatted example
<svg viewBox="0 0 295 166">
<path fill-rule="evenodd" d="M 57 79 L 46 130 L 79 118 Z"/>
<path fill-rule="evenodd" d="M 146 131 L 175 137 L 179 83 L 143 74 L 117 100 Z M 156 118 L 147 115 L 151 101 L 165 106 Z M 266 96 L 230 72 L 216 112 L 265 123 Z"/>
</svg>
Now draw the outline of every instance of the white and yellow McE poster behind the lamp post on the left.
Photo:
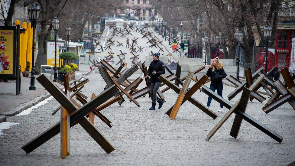
<svg viewBox="0 0 295 166">
<path fill-rule="evenodd" d="M 65 41 L 56 41 L 56 66 L 59 64 L 59 54 L 60 50 L 59 46 L 65 46 Z M 46 65 L 51 65 L 54 67 L 54 57 L 55 57 L 55 42 L 54 41 L 46 41 L 46 57 L 47 62 Z"/>
</svg>

